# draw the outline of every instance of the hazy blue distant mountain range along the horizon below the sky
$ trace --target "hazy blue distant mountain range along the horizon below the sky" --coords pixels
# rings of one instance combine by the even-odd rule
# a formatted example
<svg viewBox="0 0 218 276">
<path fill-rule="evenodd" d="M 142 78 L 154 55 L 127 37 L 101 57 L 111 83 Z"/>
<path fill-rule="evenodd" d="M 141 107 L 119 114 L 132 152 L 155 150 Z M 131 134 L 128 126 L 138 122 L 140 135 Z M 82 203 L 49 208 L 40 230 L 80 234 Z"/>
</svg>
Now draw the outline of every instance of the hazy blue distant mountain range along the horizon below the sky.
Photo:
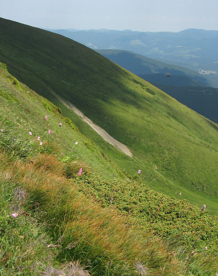
<svg viewBox="0 0 218 276">
<path fill-rule="evenodd" d="M 210 71 L 208 79 L 218 87 L 218 31 L 187 29 L 181 32 L 137 32 L 131 30 L 52 30 L 85 46 L 98 49 L 127 50 L 169 64 L 199 72 Z"/>
</svg>

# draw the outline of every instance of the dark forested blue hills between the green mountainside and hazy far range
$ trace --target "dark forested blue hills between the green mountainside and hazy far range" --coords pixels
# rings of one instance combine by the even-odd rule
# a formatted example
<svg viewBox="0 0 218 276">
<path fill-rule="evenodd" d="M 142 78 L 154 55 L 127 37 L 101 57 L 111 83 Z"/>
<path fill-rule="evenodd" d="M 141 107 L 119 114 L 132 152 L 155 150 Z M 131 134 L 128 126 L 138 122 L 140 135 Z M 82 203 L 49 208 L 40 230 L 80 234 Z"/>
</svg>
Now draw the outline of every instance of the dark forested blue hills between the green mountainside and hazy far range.
<svg viewBox="0 0 218 276">
<path fill-rule="evenodd" d="M 216 85 L 199 73 L 124 50 L 96 51 L 152 83 L 180 103 L 218 123 L 217 89 L 203 88 Z"/>
</svg>

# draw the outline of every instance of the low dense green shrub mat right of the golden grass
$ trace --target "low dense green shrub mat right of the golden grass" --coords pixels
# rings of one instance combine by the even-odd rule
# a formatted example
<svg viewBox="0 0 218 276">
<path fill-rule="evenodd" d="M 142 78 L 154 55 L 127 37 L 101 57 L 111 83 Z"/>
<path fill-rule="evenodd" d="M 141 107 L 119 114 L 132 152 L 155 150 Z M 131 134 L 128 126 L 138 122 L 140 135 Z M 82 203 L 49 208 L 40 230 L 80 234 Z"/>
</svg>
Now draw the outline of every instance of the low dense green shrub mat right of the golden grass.
<svg viewBox="0 0 218 276">
<path fill-rule="evenodd" d="M 93 177 L 93 178 L 92 178 Z M 206 244 L 217 246 L 217 218 L 208 216 L 186 200 L 160 195 L 148 186 L 142 185 L 139 177 L 134 182 L 105 181 L 87 175 L 79 186 L 86 195 L 90 194 L 102 206 L 115 206 L 126 215 L 132 215 L 135 223 L 142 225 L 152 221 L 155 235 L 174 239 L 174 243 L 191 248 L 204 247 Z M 178 195 L 178 198 L 180 196 Z"/>
</svg>

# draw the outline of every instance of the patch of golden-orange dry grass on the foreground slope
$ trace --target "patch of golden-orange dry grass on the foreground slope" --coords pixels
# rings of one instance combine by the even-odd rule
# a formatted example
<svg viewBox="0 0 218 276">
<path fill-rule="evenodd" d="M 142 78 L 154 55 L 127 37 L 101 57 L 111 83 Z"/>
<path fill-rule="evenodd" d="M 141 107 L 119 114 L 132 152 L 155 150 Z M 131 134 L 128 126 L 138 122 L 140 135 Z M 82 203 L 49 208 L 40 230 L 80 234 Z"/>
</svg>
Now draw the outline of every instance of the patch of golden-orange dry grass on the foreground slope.
<svg viewBox="0 0 218 276">
<path fill-rule="evenodd" d="M 33 162 L 17 161 L 11 169 L 13 181 L 29 195 L 32 213 L 39 214 L 54 239 L 64 236 L 62 257 L 70 261 L 76 255 L 117 271 L 124 267 L 135 271 L 134 264 L 143 262 L 150 275 L 178 275 L 180 262 L 174 255 L 169 258 L 171 252 L 163 242 L 143 233 L 117 210 L 87 199 L 76 186 L 81 178 L 72 173 L 72 183 L 65 166 L 54 156 L 39 154 Z"/>
</svg>

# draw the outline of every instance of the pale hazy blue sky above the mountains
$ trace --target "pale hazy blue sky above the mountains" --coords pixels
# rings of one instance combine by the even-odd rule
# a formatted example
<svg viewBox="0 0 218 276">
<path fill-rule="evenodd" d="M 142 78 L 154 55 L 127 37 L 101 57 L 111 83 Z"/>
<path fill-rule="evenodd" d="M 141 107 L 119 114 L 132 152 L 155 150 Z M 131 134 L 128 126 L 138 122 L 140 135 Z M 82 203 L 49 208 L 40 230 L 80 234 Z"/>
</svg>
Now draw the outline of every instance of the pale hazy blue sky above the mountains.
<svg viewBox="0 0 218 276">
<path fill-rule="evenodd" d="M 0 17 L 50 29 L 218 30 L 218 0 L 0 0 Z"/>
</svg>

